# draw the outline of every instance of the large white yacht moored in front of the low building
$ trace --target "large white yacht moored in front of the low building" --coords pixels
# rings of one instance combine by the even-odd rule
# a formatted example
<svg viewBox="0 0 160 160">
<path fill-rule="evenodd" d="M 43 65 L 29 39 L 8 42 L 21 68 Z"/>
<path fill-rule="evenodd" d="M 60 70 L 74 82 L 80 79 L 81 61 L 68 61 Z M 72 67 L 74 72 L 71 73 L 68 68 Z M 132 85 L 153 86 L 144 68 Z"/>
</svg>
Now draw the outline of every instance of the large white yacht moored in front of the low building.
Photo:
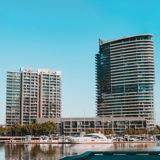
<svg viewBox="0 0 160 160">
<path fill-rule="evenodd" d="M 90 133 L 81 137 L 70 137 L 68 139 L 71 143 L 79 144 L 107 144 L 113 143 L 111 136 L 105 136 L 100 133 Z"/>
</svg>

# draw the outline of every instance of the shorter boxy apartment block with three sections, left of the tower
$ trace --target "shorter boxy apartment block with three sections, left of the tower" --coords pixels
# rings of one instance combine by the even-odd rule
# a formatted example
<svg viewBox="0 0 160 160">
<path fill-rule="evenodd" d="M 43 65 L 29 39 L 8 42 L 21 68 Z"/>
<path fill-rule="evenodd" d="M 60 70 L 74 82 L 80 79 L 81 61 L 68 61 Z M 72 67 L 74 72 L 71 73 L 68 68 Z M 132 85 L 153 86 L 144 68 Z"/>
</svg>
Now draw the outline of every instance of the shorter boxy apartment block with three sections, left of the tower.
<svg viewBox="0 0 160 160">
<path fill-rule="evenodd" d="M 40 69 L 7 72 L 6 125 L 61 116 L 61 73 Z"/>
</svg>

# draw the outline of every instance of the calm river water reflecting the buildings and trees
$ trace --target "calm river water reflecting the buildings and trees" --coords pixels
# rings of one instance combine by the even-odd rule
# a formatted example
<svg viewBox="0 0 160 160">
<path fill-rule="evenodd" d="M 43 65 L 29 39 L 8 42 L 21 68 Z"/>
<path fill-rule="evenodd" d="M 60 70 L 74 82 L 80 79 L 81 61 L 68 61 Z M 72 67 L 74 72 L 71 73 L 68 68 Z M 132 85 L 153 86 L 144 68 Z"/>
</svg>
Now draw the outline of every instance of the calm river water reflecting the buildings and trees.
<svg viewBox="0 0 160 160">
<path fill-rule="evenodd" d="M 26 144 L 0 145 L 0 160 L 58 160 L 85 151 L 152 150 L 160 151 L 160 143 L 117 144 Z"/>
</svg>

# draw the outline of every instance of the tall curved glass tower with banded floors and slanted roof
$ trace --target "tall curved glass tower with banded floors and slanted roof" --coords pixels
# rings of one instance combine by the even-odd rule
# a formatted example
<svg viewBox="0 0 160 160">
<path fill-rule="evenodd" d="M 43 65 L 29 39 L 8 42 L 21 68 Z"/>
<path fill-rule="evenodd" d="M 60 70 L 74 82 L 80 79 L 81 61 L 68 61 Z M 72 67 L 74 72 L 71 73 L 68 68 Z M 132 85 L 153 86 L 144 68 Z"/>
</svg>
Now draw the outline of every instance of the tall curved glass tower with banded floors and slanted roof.
<svg viewBox="0 0 160 160">
<path fill-rule="evenodd" d="M 99 42 L 97 116 L 143 117 L 154 126 L 152 35 Z"/>
</svg>

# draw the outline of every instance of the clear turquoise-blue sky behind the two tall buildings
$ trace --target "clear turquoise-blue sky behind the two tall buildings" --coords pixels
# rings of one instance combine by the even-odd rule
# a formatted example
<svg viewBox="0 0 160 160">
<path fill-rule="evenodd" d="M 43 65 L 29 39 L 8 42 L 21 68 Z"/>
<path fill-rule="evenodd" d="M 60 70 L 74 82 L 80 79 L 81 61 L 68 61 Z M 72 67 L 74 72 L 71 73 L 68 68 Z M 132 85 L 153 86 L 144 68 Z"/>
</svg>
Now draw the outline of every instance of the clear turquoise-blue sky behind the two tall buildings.
<svg viewBox="0 0 160 160">
<path fill-rule="evenodd" d="M 0 2 L 0 123 L 6 72 L 20 67 L 62 71 L 62 116 L 95 116 L 98 39 L 151 33 L 155 113 L 160 124 L 159 0 L 6 0 Z"/>
</svg>

